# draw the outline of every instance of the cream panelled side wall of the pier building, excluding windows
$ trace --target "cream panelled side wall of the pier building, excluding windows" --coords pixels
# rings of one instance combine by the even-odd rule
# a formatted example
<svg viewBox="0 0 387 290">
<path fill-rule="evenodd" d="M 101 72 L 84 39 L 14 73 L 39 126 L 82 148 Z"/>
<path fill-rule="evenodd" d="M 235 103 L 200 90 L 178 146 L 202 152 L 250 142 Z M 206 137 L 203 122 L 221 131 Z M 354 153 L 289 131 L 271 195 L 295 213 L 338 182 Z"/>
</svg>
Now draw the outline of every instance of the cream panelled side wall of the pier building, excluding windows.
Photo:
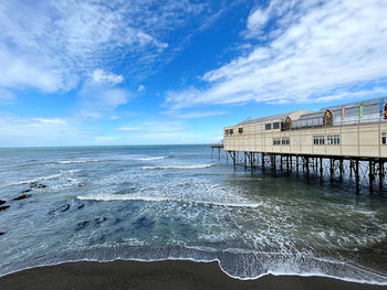
<svg viewBox="0 0 387 290">
<path fill-rule="evenodd" d="M 275 122 L 273 120 L 271 122 Z M 238 129 L 242 127 L 243 132 Z M 387 122 L 337 126 L 302 130 L 265 130 L 264 123 L 232 126 L 232 136 L 223 136 L 224 149 L 228 151 L 252 151 L 268 153 L 327 154 L 351 157 L 387 158 L 387 146 L 381 144 L 380 135 L 387 132 Z M 313 136 L 325 136 L 324 146 L 314 146 Z M 341 144 L 327 144 L 328 135 L 339 135 Z M 273 138 L 290 138 L 290 146 L 273 146 Z"/>
</svg>

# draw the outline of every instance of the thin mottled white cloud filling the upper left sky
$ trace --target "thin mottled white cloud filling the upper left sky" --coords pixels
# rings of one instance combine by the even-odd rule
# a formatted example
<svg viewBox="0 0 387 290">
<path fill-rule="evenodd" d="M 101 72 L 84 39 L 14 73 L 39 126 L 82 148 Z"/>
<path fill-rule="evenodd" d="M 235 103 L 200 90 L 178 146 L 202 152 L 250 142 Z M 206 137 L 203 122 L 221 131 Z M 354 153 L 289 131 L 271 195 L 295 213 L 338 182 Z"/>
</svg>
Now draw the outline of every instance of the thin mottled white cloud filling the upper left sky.
<svg viewBox="0 0 387 290">
<path fill-rule="evenodd" d="M 117 60 L 132 75 L 153 73 L 168 49 L 164 39 L 205 7 L 189 0 L 0 0 L 0 87 L 66 92 Z"/>
</svg>

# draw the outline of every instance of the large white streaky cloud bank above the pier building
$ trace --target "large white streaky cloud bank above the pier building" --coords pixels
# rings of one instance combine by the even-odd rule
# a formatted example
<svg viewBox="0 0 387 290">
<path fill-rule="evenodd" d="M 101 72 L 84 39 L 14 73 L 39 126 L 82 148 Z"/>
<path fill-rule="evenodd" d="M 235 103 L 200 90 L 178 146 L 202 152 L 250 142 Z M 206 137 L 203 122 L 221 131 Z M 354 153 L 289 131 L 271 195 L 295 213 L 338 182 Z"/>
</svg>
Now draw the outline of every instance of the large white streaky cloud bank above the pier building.
<svg viewBox="0 0 387 290">
<path fill-rule="evenodd" d="M 206 73 L 207 88 L 168 92 L 167 104 L 305 103 L 386 86 L 386 1 L 272 1 L 270 9 L 275 25 L 266 42 Z"/>
</svg>

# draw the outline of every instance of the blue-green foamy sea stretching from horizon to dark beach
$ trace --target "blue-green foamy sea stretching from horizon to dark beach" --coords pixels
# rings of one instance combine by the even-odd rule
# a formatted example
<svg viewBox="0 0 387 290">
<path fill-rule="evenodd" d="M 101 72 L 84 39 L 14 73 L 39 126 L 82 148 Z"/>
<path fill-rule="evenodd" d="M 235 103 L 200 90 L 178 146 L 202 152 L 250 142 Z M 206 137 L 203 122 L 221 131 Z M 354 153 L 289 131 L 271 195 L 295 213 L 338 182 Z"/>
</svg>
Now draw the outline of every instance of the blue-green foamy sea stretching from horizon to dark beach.
<svg viewBox="0 0 387 290">
<path fill-rule="evenodd" d="M 0 276 L 64 261 L 218 260 L 229 276 L 387 284 L 387 198 L 233 170 L 209 146 L 0 150 Z M 24 193 L 22 193 L 24 192 Z M 12 201 L 27 194 L 27 198 Z M 30 196 L 29 196 L 30 195 Z"/>
</svg>

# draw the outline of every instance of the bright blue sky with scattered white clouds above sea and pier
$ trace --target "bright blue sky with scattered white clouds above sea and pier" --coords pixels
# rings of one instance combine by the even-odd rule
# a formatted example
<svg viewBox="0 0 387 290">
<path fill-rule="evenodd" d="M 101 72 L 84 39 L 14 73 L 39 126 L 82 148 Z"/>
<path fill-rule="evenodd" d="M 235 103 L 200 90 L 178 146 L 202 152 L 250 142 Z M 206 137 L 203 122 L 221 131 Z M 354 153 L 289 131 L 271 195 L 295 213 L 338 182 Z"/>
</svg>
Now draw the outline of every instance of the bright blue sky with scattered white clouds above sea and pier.
<svg viewBox="0 0 387 290">
<path fill-rule="evenodd" d="M 0 0 L 0 147 L 212 143 L 387 95 L 387 0 Z"/>
</svg>

